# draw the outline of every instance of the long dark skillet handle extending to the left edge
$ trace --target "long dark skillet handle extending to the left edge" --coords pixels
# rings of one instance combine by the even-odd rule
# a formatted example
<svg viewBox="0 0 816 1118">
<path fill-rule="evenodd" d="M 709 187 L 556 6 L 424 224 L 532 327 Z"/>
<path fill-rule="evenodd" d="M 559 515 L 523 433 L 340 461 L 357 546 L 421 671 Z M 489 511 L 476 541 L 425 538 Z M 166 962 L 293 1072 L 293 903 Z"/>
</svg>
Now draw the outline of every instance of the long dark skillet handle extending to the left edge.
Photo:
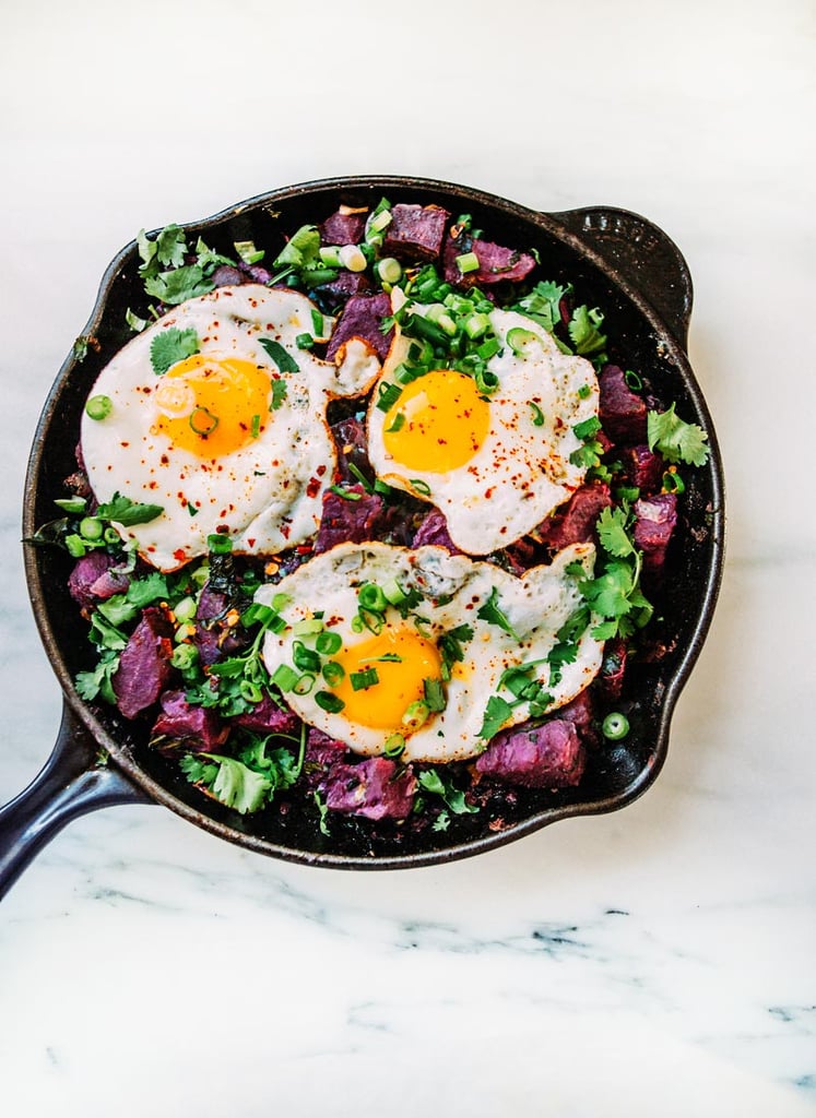
<svg viewBox="0 0 816 1118">
<path fill-rule="evenodd" d="M 43 770 L 0 807 L 0 898 L 66 823 L 113 804 L 150 803 L 118 769 L 97 765 L 97 756 L 96 742 L 66 704 Z"/>
</svg>

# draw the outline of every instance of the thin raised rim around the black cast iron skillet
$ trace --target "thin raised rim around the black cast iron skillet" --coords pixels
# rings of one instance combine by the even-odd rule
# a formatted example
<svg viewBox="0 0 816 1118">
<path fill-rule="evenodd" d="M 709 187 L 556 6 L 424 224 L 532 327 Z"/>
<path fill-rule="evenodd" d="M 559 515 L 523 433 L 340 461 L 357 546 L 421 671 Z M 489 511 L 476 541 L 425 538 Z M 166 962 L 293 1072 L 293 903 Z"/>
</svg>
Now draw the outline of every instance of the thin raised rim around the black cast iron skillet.
<svg viewBox="0 0 816 1118">
<path fill-rule="evenodd" d="M 487 850 L 506 845 L 509 842 L 524 837 L 525 835 L 538 831 L 544 826 L 555 823 L 562 818 L 580 815 L 607 814 L 612 811 L 618 811 L 639 798 L 639 796 L 641 796 L 654 784 L 660 769 L 663 768 L 663 765 L 665 764 L 668 754 L 670 722 L 674 716 L 677 699 L 700 655 L 711 626 L 723 575 L 725 519 L 722 459 L 707 405 L 688 363 L 687 353 L 684 348 L 684 339 L 678 338 L 676 332 L 669 329 L 665 318 L 657 312 L 647 296 L 631 282 L 629 277 L 623 274 L 620 268 L 612 266 L 608 258 L 603 256 L 602 252 L 597 250 L 591 244 L 588 243 L 588 240 L 582 239 L 579 235 L 568 228 L 565 224 L 563 224 L 564 219 L 570 215 L 580 215 L 590 211 L 606 211 L 613 212 L 616 215 L 623 215 L 625 217 L 629 217 L 657 230 L 657 233 L 662 235 L 664 240 L 676 253 L 679 265 L 685 267 L 685 260 L 674 243 L 666 237 L 663 230 L 654 226 L 654 224 L 647 218 L 643 218 L 629 210 L 622 210 L 617 207 L 598 206 L 581 207 L 575 210 L 561 211 L 559 214 L 541 212 L 487 191 L 430 178 L 414 178 L 405 176 L 347 176 L 315 179 L 288 187 L 279 187 L 271 191 L 255 195 L 242 202 L 226 207 L 209 217 L 177 224 L 179 225 L 179 228 L 185 231 L 196 230 L 198 233 L 203 233 L 207 229 L 221 226 L 226 221 L 238 218 L 247 210 L 269 208 L 276 201 L 291 201 L 292 199 L 297 199 L 299 197 L 303 198 L 326 190 L 330 190 L 339 195 L 343 191 L 386 191 L 390 188 L 416 190 L 418 196 L 421 195 L 422 191 L 444 193 L 451 199 L 456 198 L 458 205 L 472 201 L 490 210 L 498 210 L 503 215 L 510 216 L 523 224 L 538 226 L 546 235 L 562 241 L 579 258 L 588 260 L 602 274 L 610 285 L 617 287 L 635 305 L 638 315 L 646 321 L 655 335 L 665 344 L 666 356 L 682 379 L 684 388 L 687 391 L 697 415 L 704 421 L 705 429 L 709 434 L 709 445 L 711 447 L 709 470 L 713 504 L 710 533 L 711 559 L 706 571 L 704 590 L 697 606 L 696 618 L 691 629 L 687 645 L 683 654 L 679 656 L 674 671 L 670 672 L 667 679 L 665 692 L 662 699 L 660 717 L 655 730 L 651 756 L 649 761 L 623 789 L 611 793 L 601 798 L 595 798 L 591 802 L 578 800 L 574 803 L 544 807 L 540 811 L 533 812 L 525 818 L 513 823 L 506 830 L 488 832 L 480 836 L 457 842 L 448 846 L 415 851 L 411 853 L 362 856 L 356 854 L 346 855 L 323 851 L 303 850 L 302 847 L 284 845 L 259 835 L 236 830 L 228 824 L 213 818 L 206 812 L 199 811 L 187 804 L 185 800 L 179 799 L 154 777 L 147 773 L 133 759 L 129 748 L 121 745 L 115 737 L 109 732 L 106 727 L 104 727 L 100 719 L 95 716 L 92 708 L 77 695 L 73 685 L 73 679 L 65 664 L 60 644 L 57 641 L 54 629 L 49 623 L 47 609 L 44 607 L 40 608 L 46 600 L 47 586 L 44 586 L 44 578 L 37 557 L 38 549 L 25 547 L 25 569 L 29 597 L 34 607 L 40 638 L 44 643 L 49 663 L 60 683 L 64 700 L 78 721 L 91 732 L 96 742 L 111 756 L 115 766 L 121 769 L 135 785 L 137 793 L 146 793 L 150 799 L 169 807 L 188 822 L 194 823 L 205 831 L 216 834 L 218 837 L 225 839 L 256 853 L 279 858 L 289 862 L 330 869 L 386 870 L 445 863 L 461 858 L 473 856 L 476 854 L 484 853 Z M 93 337 L 96 333 L 97 328 L 104 318 L 107 300 L 111 295 L 113 284 L 124 265 L 130 262 L 135 254 L 137 241 L 133 239 L 120 249 L 105 268 L 100 281 L 93 310 L 82 334 L 79 335 L 81 338 Z M 688 277 L 687 267 L 685 276 L 686 278 Z M 687 322 L 687 314 L 691 310 L 691 281 L 688 281 L 687 306 L 685 310 Z M 37 424 L 25 483 L 24 539 L 30 539 L 38 527 L 34 519 L 35 503 L 39 492 L 39 479 L 43 468 L 44 454 L 47 446 L 47 436 L 50 433 L 51 424 L 54 421 L 54 413 L 57 409 L 60 397 L 65 391 L 66 386 L 69 385 L 72 373 L 78 363 L 79 360 L 75 351 L 72 349 L 56 376 Z M 139 794 L 138 798 L 142 799 L 143 796 Z"/>
</svg>

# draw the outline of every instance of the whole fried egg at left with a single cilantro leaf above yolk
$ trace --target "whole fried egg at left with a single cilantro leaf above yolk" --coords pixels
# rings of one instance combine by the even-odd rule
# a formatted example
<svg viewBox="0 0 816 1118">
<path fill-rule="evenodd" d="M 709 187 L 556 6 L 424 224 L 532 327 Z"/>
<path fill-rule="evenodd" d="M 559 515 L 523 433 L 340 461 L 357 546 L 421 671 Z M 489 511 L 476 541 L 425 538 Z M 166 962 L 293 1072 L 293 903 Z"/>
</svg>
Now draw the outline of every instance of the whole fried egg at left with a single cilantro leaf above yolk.
<svg viewBox="0 0 816 1118">
<path fill-rule="evenodd" d="M 274 553 L 317 531 L 336 466 L 326 408 L 367 391 L 379 371 L 363 343 L 339 368 L 299 348 L 332 325 L 298 292 L 219 287 L 175 307 L 102 370 L 91 398 L 104 407 L 90 409 L 102 418 L 86 409 L 82 421 L 88 481 L 101 503 L 119 493 L 161 508 L 118 525 L 154 567 L 204 555 L 216 532 L 236 552 Z"/>
</svg>

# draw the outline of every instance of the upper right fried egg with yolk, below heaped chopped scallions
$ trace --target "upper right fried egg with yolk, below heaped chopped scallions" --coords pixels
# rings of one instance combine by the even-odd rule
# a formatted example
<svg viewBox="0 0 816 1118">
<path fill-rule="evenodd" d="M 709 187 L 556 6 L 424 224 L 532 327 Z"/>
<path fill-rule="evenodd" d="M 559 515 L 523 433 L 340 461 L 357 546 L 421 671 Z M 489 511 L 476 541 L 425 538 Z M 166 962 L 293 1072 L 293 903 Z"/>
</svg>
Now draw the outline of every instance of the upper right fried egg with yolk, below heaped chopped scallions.
<svg viewBox="0 0 816 1118">
<path fill-rule="evenodd" d="M 495 310 L 489 320 L 501 345 L 487 362 L 497 380 L 490 395 L 445 368 L 401 385 L 411 340 L 398 332 L 368 409 L 379 477 L 435 504 L 469 555 L 520 539 L 581 485 L 587 467 L 570 461 L 582 445 L 573 428 L 599 408 L 589 361 L 562 353 L 526 315 Z M 512 331 L 523 339 L 515 348 Z"/>
</svg>

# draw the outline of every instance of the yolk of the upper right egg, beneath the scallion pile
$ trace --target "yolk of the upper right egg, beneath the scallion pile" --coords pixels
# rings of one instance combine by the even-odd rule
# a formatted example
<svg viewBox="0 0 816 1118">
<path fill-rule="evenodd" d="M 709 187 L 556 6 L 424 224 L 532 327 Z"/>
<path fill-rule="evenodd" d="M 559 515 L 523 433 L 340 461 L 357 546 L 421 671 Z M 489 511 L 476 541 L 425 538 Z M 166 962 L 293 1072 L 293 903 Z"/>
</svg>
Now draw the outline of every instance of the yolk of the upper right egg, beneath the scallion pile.
<svg viewBox="0 0 816 1118">
<path fill-rule="evenodd" d="M 479 451 L 490 405 L 476 381 L 456 369 L 434 369 L 411 381 L 385 416 L 386 453 L 412 470 L 447 473 Z"/>
</svg>

